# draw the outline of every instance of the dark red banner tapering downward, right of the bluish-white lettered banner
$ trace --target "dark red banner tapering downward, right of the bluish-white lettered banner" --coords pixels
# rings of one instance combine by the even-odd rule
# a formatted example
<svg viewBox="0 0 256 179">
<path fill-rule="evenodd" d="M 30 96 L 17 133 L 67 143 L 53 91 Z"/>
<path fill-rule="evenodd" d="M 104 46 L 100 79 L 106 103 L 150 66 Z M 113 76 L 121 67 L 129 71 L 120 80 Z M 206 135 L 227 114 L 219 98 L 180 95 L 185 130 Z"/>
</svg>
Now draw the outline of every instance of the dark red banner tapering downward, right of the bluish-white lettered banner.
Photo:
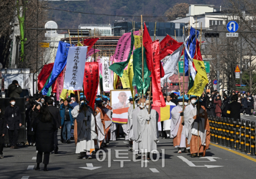
<svg viewBox="0 0 256 179">
<path fill-rule="evenodd" d="M 84 94 L 89 106 L 94 109 L 99 85 L 99 62 L 86 62 L 84 68 Z"/>
</svg>

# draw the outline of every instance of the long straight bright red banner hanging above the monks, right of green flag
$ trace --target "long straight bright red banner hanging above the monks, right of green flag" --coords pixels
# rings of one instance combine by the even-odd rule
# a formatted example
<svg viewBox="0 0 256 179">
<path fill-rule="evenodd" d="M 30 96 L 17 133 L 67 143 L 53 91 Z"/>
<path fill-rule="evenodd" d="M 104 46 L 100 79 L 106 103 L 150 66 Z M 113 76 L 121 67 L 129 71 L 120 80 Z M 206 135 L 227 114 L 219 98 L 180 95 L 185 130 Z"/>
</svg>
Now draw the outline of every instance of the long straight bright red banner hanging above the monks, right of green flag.
<svg viewBox="0 0 256 179">
<path fill-rule="evenodd" d="M 161 82 L 160 82 L 160 48 L 159 48 L 159 40 L 156 40 L 151 43 L 151 51 L 152 51 L 152 96 L 153 96 L 153 105 L 158 107 L 166 107 L 165 100 L 163 98 L 163 93 L 161 91 Z"/>
</svg>

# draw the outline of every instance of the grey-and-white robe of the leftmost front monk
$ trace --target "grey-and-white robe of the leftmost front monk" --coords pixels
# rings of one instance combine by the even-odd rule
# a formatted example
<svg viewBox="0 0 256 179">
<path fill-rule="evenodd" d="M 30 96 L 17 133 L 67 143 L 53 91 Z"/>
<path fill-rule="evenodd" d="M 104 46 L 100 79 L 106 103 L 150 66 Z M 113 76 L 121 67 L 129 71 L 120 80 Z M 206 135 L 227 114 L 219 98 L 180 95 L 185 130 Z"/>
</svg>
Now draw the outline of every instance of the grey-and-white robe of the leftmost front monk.
<svg viewBox="0 0 256 179">
<path fill-rule="evenodd" d="M 87 127 L 85 126 L 85 121 L 87 122 Z M 87 111 L 86 117 L 84 117 L 84 112 L 79 113 L 76 118 L 77 122 L 77 145 L 76 153 L 90 151 L 94 149 L 93 139 L 97 139 L 97 134 L 95 132 L 95 118 L 92 113 Z"/>
</svg>

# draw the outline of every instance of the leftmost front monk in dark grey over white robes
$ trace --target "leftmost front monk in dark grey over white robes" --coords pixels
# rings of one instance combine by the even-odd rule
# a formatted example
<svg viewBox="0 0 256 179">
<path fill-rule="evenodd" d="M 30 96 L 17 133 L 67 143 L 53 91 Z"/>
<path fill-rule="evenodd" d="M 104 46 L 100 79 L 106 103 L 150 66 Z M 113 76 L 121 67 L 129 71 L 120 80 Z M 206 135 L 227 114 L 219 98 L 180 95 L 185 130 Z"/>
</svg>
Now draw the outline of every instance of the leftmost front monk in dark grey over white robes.
<svg viewBox="0 0 256 179">
<path fill-rule="evenodd" d="M 80 153 L 82 159 L 92 159 L 90 150 L 95 149 L 94 139 L 97 139 L 95 132 L 95 118 L 93 113 L 88 111 L 87 105 L 81 105 L 81 113 L 77 115 L 75 120 L 75 142 L 76 142 L 76 153 Z"/>
</svg>

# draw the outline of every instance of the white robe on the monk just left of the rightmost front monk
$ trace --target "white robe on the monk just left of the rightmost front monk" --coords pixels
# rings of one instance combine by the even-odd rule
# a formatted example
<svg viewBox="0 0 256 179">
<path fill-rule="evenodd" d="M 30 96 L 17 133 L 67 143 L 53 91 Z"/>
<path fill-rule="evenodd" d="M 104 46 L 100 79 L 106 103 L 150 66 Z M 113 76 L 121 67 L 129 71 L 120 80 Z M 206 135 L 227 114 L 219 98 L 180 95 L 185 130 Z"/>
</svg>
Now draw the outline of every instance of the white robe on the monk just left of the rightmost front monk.
<svg viewBox="0 0 256 179">
<path fill-rule="evenodd" d="M 182 112 L 182 107 L 180 105 L 177 105 L 172 109 L 172 124 L 171 124 L 171 138 L 175 138 L 177 136 L 179 127 L 180 127 L 180 122 L 182 122 L 180 116 L 180 112 Z M 182 131 L 185 129 L 185 127 L 182 128 Z M 174 146 L 175 148 L 184 148 L 186 147 L 186 137 L 184 134 L 181 133 L 181 139 L 180 139 L 180 145 L 179 146 Z"/>
</svg>

